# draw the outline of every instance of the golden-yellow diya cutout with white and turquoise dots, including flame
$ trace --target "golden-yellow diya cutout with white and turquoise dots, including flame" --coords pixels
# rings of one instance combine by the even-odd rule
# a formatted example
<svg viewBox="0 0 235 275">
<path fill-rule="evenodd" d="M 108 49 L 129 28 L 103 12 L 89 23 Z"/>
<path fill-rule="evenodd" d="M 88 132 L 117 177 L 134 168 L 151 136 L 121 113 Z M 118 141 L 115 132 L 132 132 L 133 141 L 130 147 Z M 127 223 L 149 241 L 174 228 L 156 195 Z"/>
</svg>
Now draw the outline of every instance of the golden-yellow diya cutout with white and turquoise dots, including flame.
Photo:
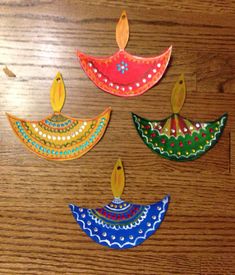
<svg viewBox="0 0 235 275">
<path fill-rule="evenodd" d="M 71 160 L 87 153 L 102 138 L 111 108 L 93 119 L 75 119 L 61 113 L 65 87 L 58 73 L 50 92 L 54 113 L 41 121 L 28 121 L 7 114 L 13 131 L 26 147 L 48 160 Z"/>
</svg>

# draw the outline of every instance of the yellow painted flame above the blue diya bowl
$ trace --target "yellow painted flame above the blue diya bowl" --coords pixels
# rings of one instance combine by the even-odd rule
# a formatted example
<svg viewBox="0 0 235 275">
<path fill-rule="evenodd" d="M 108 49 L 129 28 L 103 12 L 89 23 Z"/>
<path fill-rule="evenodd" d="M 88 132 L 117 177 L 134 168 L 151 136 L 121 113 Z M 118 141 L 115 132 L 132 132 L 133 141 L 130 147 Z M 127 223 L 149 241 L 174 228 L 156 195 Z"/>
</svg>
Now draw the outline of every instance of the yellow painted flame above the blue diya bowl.
<svg viewBox="0 0 235 275">
<path fill-rule="evenodd" d="M 111 187 L 114 198 L 120 198 L 125 185 L 125 175 L 122 161 L 120 159 L 114 165 L 111 176 Z"/>
</svg>

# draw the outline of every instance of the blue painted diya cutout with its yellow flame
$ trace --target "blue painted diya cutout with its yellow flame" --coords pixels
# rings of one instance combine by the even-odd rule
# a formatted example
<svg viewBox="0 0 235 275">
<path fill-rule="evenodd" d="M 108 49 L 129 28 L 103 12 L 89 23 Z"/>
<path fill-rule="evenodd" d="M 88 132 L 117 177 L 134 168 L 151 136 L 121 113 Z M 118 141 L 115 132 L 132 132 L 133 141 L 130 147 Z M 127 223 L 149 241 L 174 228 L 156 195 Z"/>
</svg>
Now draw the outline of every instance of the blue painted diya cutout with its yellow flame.
<svg viewBox="0 0 235 275">
<path fill-rule="evenodd" d="M 93 241 L 115 249 L 131 248 L 149 238 L 162 223 L 170 199 L 166 196 L 151 205 L 122 201 L 124 182 L 122 162 L 118 160 L 111 177 L 111 203 L 98 209 L 70 205 L 75 220 Z"/>
</svg>

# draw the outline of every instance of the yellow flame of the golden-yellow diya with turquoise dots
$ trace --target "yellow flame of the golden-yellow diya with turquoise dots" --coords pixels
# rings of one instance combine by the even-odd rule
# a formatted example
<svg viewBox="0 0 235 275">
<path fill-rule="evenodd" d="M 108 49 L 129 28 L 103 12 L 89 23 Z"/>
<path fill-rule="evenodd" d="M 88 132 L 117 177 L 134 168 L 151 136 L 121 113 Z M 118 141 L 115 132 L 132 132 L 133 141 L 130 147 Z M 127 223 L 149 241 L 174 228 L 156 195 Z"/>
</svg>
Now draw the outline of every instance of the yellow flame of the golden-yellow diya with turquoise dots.
<svg viewBox="0 0 235 275">
<path fill-rule="evenodd" d="M 51 106 L 54 113 L 60 113 L 65 102 L 65 87 L 62 75 L 57 73 L 50 91 Z"/>
</svg>

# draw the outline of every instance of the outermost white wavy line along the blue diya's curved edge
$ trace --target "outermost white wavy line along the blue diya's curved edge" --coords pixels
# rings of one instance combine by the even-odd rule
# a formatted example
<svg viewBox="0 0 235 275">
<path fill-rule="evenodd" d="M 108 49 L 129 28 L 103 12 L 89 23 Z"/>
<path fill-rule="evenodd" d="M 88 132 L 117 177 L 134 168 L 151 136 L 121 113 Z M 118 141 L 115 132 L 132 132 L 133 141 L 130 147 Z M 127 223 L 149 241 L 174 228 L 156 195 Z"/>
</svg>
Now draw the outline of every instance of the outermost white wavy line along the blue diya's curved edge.
<svg viewBox="0 0 235 275">
<path fill-rule="evenodd" d="M 79 219 L 79 214 L 78 214 L 76 211 L 74 211 L 74 207 L 75 207 L 75 206 L 74 206 L 73 204 L 70 204 L 70 205 L 71 205 L 72 208 L 73 208 L 72 212 L 73 212 L 74 214 L 76 214 L 76 216 L 77 216 L 76 221 L 77 221 L 77 222 L 80 221 L 80 222 L 82 223 L 82 225 L 83 225 L 83 226 L 82 226 L 82 229 L 83 229 L 83 230 L 88 230 L 88 231 L 90 232 L 90 237 L 97 237 L 98 240 L 99 240 L 99 243 L 106 243 L 106 244 L 107 244 L 108 246 L 110 246 L 110 247 L 112 247 L 112 246 L 114 246 L 114 245 L 117 245 L 119 248 L 123 248 L 123 247 L 126 246 L 126 245 L 136 246 L 136 243 L 137 243 L 137 241 L 138 241 L 139 239 L 144 239 L 144 240 L 145 240 L 146 237 L 147 237 L 148 232 L 151 232 L 151 231 L 155 231 L 155 230 L 156 230 L 155 226 L 156 226 L 158 223 L 161 223 L 161 221 L 162 221 L 161 215 L 162 215 L 163 213 L 166 212 L 165 206 L 166 206 L 166 204 L 168 203 L 168 197 L 166 197 L 165 199 L 163 199 L 162 202 L 163 202 L 163 209 L 162 209 L 162 211 L 159 212 L 159 214 L 158 214 L 158 220 L 154 222 L 153 227 L 149 228 L 149 229 L 145 232 L 144 236 L 139 236 L 138 238 L 136 238 L 134 242 L 125 242 L 125 243 L 122 244 L 122 245 L 121 245 L 120 243 L 118 243 L 118 242 L 113 242 L 113 243 L 111 243 L 109 240 L 101 240 L 99 235 L 93 234 L 92 231 L 91 231 L 91 229 L 88 228 L 88 227 L 86 227 L 85 222 L 84 222 L 83 220 L 80 220 L 80 219 Z"/>
</svg>

